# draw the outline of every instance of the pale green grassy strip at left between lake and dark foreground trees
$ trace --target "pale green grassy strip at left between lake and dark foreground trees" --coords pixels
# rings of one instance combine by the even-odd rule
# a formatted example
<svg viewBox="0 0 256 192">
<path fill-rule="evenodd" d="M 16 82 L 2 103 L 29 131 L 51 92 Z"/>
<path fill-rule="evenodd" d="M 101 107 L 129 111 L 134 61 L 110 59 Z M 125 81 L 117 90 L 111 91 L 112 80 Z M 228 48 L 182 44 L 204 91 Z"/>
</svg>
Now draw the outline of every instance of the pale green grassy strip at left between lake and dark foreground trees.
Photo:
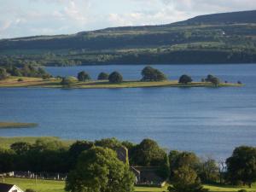
<svg viewBox="0 0 256 192">
<path fill-rule="evenodd" d="M 0 148 L 9 148 L 12 143 L 16 142 L 35 143 L 38 139 L 42 139 L 45 142 L 60 141 L 64 146 L 69 146 L 73 143 L 72 140 L 61 140 L 58 137 L 0 137 Z"/>
</svg>

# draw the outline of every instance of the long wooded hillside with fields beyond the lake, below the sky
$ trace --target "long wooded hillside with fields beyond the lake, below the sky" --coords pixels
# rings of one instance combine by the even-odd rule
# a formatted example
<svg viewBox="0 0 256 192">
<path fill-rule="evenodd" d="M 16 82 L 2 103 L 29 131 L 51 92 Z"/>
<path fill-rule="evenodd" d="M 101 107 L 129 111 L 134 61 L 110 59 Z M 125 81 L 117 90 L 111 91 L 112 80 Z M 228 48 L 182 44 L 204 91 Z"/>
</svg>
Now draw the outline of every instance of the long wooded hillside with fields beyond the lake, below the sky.
<svg viewBox="0 0 256 192">
<path fill-rule="evenodd" d="M 248 62 L 256 62 L 256 10 L 161 26 L 0 40 L 2 66 Z"/>
</svg>

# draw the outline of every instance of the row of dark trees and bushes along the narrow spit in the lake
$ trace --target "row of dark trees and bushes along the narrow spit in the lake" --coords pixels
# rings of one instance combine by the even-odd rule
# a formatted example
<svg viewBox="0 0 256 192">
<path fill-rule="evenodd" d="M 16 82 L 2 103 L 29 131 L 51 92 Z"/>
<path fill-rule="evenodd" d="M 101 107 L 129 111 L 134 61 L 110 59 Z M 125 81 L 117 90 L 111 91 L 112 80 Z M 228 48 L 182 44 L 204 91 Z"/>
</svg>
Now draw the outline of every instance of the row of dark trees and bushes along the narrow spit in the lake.
<svg viewBox="0 0 256 192">
<path fill-rule="evenodd" d="M 167 76 L 165 73 L 161 72 L 159 69 L 156 69 L 154 67 L 144 67 L 141 72 L 143 78 L 141 81 L 165 81 L 167 80 Z M 9 76 L 15 76 L 15 77 L 33 77 L 33 78 L 42 78 L 42 79 L 49 79 L 53 76 L 47 73 L 44 68 L 42 67 L 33 67 L 32 65 L 25 65 L 24 67 L 0 67 L 0 80 L 6 79 Z M 73 79 L 71 77 L 65 77 L 62 78 L 60 76 L 56 78 L 61 78 L 61 84 L 63 85 L 71 85 L 73 84 Z M 79 72 L 77 75 L 77 79 L 80 82 L 86 82 L 90 81 L 90 74 L 86 73 L 85 71 Z M 123 76 L 119 72 L 113 72 L 113 73 L 100 73 L 97 77 L 98 80 L 108 80 L 110 83 L 118 84 L 124 81 Z M 22 79 L 19 79 L 22 81 Z M 191 76 L 187 74 L 183 74 L 179 79 L 179 84 L 189 84 L 192 83 L 193 79 Z M 212 84 L 215 84 L 216 86 L 220 84 L 221 80 L 218 79 L 218 77 L 215 77 L 211 74 L 207 75 L 206 79 L 201 79 L 201 82 L 210 82 Z M 227 83 L 225 81 L 225 83 Z M 238 84 L 241 84 L 240 81 L 237 82 Z"/>
</svg>

